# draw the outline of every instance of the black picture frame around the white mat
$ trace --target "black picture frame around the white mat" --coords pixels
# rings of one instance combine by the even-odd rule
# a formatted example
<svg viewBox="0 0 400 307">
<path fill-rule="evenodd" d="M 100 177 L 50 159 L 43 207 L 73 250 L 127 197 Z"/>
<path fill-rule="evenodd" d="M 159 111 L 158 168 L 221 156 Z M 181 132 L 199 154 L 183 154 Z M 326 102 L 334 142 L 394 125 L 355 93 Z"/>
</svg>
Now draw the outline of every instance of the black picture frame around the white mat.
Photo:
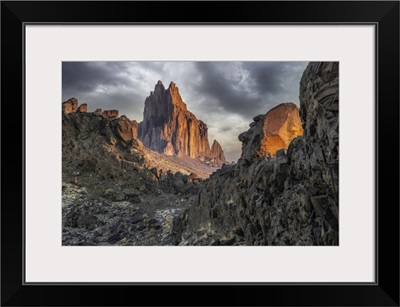
<svg viewBox="0 0 400 307">
<path fill-rule="evenodd" d="M 182 15 L 181 11 L 187 13 Z M 25 187 L 24 25 L 32 22 L 374 24 L 377 38 L 376 283 L 25 284 L 22 235 Z M 399 101 L 398 1 L 3 1 L 1 305 L 399 306 Z M 37 104 L 40 107 L 40 102 Z M 363 150 L 360 149 L 359 154 Z M 185 299 L 188 297 L 189 300 Z"/>
</svg>

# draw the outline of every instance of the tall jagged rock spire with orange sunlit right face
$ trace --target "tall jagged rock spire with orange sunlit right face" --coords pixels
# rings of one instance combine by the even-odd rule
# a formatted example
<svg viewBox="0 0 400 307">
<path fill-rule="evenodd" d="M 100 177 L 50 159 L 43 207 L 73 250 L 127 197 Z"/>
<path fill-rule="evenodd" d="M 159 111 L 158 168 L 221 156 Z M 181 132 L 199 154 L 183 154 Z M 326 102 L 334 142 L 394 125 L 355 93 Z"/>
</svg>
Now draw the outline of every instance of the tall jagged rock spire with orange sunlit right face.
<svg viewBox="0 0 400 307">
<path fill-rule="evenodd" d="M 207 125 L 187 110 L 179 89 L 158 81 L 146 98 L 139 139 L 144 146 L 166 155 L 199 158 L 210 155 Z"/>
</svg>

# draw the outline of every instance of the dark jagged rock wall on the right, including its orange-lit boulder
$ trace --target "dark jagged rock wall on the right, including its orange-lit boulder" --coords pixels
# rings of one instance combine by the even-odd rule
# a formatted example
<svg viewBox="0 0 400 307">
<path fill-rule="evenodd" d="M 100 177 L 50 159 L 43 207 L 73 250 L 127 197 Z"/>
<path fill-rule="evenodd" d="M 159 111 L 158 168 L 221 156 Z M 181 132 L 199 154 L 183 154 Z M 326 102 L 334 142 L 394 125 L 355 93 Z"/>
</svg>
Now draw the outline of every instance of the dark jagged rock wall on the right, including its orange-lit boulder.
<svg viewBox="0 0 400 307">
<path fill-rule="evenodd" d="M 186 228 L 180 244 L 221 245 L 228 240 L 230 245 L 338 245 L 338 79 L 337 62 L 307 66 L 299 96 L 304 134 L 287 151 L 265 157 L 264 150 L 260 155 L 265 132 L 279 135 L 285 125 L 268 121 L 268 114 L 254 119 L 240 137 L 238 163 L 206 180 L 195 205 L 182 217 Z M 288 139 L 292 130 L 299 131 L 290 125 L 283 129 Z"/>
</svg>

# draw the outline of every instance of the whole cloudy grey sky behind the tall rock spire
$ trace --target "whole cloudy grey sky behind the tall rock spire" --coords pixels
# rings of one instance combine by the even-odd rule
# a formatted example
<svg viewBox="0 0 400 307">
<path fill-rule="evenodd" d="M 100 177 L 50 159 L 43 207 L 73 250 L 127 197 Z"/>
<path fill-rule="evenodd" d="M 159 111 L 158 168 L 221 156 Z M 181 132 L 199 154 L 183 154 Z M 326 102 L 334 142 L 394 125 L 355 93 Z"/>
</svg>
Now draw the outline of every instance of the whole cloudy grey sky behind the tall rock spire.
<svg viewBox="0 0 400 307">
<path fill-rule="evenodd" d="M 283 102 L 299 104 L 307 62 L 64 62 L 62 98 L 87 103 L 88 111 L 117 109 L 138 122 L 158 80 L 175 82 L 188 110 L 208 126 L 226 158 L 240 157 L 238 135 L 252 118 Z"/>
</svg>

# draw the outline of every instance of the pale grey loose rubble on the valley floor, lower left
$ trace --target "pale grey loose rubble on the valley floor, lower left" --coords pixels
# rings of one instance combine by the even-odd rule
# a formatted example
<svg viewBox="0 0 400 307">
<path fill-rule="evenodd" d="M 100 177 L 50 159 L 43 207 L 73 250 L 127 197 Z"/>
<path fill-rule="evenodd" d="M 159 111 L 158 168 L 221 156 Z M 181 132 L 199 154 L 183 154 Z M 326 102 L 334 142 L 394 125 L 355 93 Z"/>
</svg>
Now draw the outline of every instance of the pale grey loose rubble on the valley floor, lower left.
<svg viewBox="0 0 400 307">
<path fill-rule="evenodd" d="M 149 199 L 142 208 L 126 200 L 90 199 L 85 188 L 64 184 L 63 245 L 177 245 L 182 202 L 165 197 L 176 207 L 154 207 Z"/>
</svg>

